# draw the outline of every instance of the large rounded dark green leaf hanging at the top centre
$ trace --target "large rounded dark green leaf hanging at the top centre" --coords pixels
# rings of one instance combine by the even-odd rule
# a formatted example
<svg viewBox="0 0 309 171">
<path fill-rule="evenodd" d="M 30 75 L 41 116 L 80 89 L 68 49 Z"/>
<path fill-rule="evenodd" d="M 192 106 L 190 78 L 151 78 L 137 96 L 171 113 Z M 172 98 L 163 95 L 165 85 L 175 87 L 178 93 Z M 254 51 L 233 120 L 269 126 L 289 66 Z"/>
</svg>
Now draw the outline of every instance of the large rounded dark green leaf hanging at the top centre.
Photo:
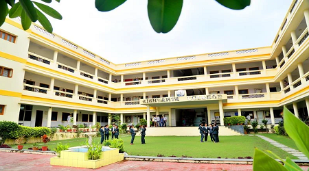
<svg viewBox="0 0 309 171">
<path fill-rule="evenodd" d="M 176 25 L 183 0 L 148 0 L 148 18 L 157 33 L 168 33 Z"/>
</svg>

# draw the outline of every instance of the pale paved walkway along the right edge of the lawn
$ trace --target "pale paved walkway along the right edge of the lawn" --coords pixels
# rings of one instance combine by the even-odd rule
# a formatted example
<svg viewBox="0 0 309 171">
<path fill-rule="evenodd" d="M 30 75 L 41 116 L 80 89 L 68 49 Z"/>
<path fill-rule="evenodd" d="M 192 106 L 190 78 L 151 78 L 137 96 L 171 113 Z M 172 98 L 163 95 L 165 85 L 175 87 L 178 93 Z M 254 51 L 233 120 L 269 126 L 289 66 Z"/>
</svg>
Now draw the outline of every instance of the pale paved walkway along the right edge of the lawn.
<svg viewBox="0 0 309 171">
<path fill-rule="evenodd" d="M 299 150 L 295 150 L 294 148 L 290 148 L 288 146 L 285 146 L 284 144 L 280 144 L 279 142 L 276 142 L 275 140 L 272 140 L 271 138 L 265 137 L 263 135 L 255 135 L 263 140 L 273 144 L 277 148 L 281 148 L 282 150 L 285 150 L 287 153 L 290 153 L 291 155 L 294 155 L 295 157 L 298 157 L 299 159 L 308 159 L 304 153 L 301 153 Z"/>
</svg>

